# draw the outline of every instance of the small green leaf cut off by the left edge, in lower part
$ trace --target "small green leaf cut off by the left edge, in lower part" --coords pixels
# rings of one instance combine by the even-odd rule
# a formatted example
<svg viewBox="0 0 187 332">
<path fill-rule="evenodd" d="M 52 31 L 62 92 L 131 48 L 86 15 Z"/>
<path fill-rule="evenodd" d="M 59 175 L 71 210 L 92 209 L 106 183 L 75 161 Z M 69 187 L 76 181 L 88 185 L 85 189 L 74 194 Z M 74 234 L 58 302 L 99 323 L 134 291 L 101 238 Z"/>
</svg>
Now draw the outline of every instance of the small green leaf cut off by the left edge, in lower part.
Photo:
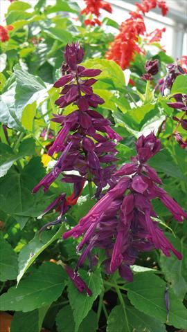
<svg viewBox="0 0 187 332">
<path fill-rule="evenodd" d="M 17 277 L 17 254 L 10 244 L 0 237 L 0 280 L 13 280 Z"/>
</svg>

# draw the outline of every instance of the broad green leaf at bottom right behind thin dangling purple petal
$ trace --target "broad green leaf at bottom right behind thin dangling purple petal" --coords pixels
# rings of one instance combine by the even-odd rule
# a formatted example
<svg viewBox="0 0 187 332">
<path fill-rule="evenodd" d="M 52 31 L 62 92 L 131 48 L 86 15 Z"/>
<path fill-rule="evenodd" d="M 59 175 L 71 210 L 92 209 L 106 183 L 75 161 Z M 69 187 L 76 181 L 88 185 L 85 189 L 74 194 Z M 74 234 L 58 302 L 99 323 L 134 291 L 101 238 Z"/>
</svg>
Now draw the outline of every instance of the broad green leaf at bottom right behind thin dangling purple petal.
<svg viewBox="0 0 187 332">
<path fill-rule="evenodd" d="M 134 281 L 125 284 L 127 296 L 136 309 L 166 323 L 166 302 L 164 294 L 166 283 L 152 273 L 139 273 L 134 275 Z M 187 328 L 187 311 L 185 306 L 177 299 L 172 289 L 169 290 L 170 313 L 168 325 L 177 329 Z"/>
</svg>

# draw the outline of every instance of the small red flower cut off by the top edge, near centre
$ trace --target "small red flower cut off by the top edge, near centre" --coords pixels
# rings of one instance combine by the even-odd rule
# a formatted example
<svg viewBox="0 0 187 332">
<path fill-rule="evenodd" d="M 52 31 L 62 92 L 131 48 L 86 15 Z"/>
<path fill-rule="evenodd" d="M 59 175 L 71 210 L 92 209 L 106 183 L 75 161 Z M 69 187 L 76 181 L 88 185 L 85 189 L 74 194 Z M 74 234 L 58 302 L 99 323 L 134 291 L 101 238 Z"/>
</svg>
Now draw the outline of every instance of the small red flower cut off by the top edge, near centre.
<svg viewBox="0 0 187 332">
<path fill-rule="evenodd" d="M 102 0 L 84 0 L 84 2 L 87 6 L 80 12 L 80 15 L 86 14 L 89 16 L 95 16 L 91 19 L 85 19 L 85 26 L 95 26 L 96 24 L 98 24 L 98 26 L 101 25 L 101 22 L 98 19 L 98 17 L 100 16 L 100 9 L 107 10 L 107 12 L 112 12 L 112 7 L 108 2 Z"/>
</svg>

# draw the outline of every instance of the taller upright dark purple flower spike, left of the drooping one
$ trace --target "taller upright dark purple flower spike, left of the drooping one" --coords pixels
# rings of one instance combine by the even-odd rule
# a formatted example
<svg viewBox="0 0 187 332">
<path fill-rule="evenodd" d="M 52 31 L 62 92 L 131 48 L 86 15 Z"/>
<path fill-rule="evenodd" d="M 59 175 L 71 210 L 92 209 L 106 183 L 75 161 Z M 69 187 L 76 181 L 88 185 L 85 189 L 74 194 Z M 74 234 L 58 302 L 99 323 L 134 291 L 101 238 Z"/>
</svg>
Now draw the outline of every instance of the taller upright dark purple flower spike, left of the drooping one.
<svg viewBox="0 0 187 332">
<path fill-rule="evenodd" d="M 93 77 L 98 76 L 101 71 L 80 66 L 83 55 L 84 51 L 78 42 L 66 46 L 62 77 L 54 84 L 56 88 L 62 88 L 55 104 L 62 109 L 74 104 L 77 109 L 68 116 L 54 115 L 52 121 L 59 123 L 62 129 L 48 149 L 48 154 L 53 156 L 57 153 L 60 156 L 52 171 L 33 189 L 33 192 L 37 192 L 40 187 L 44 187 L 46 192 L 60 175 L 63 182 L 73 183 L 73 196 L 64 198 L 64 194 L 60 195 L 44 211 L 48 212 L 56 203 L 59 205 L 61 202 L 62 208 L 57 206 L 57 210 L 60 210 L 57 220 L 66 213 L 67 207 L 75 204 L 86 181 L 95 183 L 96 197 L 100 196 L 103 187 L 112 185 L 111 177 L 116 170 L 114 162 L 117 160 L 116 142 L 121 140 L 121 136 L 111 128 L 111 122 L 94 110 L 98 104 L 105 102 L 92 88 L 97 82 Z M 78 175 L 64 174 L 65 171 L 77 171 Z"/>
</svg>

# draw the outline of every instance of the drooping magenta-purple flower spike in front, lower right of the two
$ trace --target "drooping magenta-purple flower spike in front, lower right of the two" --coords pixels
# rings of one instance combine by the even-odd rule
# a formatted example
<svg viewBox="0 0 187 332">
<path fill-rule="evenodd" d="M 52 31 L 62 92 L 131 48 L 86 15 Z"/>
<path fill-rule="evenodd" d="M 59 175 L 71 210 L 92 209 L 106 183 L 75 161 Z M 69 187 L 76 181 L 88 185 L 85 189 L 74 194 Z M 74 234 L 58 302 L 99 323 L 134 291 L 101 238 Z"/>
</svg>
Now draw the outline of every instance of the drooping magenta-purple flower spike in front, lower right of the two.
<svg viewBox="0 0 187 332">
<path fill-rule="evenodd" d="M 152 208 L 152 199 L 160 199 L 177 221 L 187 218 L 186 212 L 172 199 L 161 185 L 158 177 L 147 161 L 161 148 L 161 142 L 154 133 L 141 136 L 136 142 L 136 157 L 132 163 L 121 167 L 113 176 L 112 187 L 89 213 L 80 219 L 78 225 L 64 233 L 68 237 L 80 237 L 78 252 L 84 248 L 75 273 L 86 257 L 91 261 L 91 250 L 103 248 L 107 259 L 104 261 L 107 273 L 116 269 L 123 279 L 132 281 L 130 265 L 134 264 L 139 252 L 161 249 L 170 256 L 172 251 L 178 259 L 181 253 L 166 239 L 159 223 L 154 221 L 157 214 Z"/>
</svg>

